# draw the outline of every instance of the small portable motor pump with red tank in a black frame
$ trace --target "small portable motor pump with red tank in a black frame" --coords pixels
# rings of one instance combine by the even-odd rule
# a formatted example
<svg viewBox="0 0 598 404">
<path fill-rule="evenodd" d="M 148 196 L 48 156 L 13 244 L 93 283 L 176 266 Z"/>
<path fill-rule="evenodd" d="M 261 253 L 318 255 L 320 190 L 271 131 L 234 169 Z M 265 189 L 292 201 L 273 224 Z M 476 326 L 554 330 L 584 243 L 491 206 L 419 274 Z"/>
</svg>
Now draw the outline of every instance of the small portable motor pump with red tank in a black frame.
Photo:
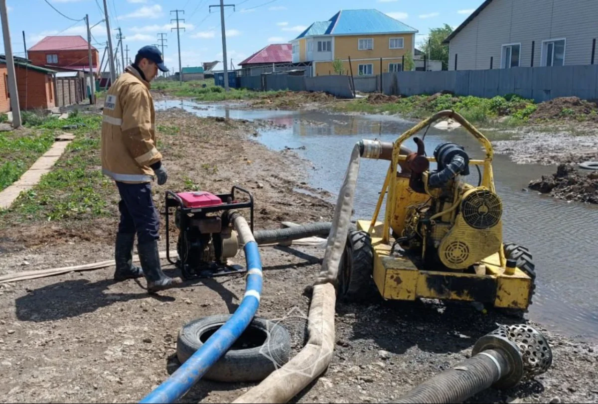
<svg viewBox="0 0 598 404">
<path fill-rule="evenodd" d="M 246 195 L 239 201 L 235 191 Z M 245 273 L 246 268 L 228 265 L 239 250 L 236 231 L 229 220 L 231 210 L 249 209 L 250 227 L 254 231 L 254 197 L 251 192 L 233 186 L 230 194 L 215 195 L 206 191 L 166 191 L 166 258 L 181 270 L 185 279 Z M 170 258 L 170 208 L 175 208 L 175 225 L 179 230 L 176 251 Z"/>
</svg>

